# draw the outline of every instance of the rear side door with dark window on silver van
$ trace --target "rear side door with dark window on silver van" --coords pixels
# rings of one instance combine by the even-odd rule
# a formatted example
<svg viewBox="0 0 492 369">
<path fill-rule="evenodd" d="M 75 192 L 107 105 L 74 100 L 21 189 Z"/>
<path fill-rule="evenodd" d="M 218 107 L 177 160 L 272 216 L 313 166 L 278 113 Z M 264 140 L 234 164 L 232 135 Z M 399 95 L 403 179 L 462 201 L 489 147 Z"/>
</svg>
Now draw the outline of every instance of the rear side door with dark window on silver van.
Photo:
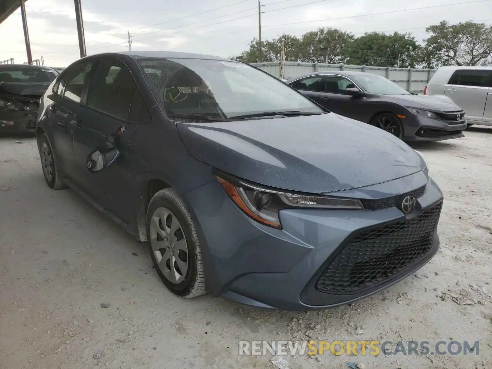
<svg viewBox="0 0 492 369">
<path fill-rule="evenodd" d="M 480 122 L 484 117 L 492 70 L 458 69 L 446 84 L 444 95 L 465 111 L 468 120 Z"/>
</svg>

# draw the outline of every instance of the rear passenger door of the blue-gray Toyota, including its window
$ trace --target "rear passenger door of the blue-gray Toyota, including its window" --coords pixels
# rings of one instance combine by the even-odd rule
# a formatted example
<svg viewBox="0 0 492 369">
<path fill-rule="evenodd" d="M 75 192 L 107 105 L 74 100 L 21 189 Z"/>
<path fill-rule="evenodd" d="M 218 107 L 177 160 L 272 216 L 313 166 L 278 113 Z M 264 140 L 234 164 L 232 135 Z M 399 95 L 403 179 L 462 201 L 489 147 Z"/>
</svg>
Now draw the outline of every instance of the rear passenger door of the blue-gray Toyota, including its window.
<svg viewBox="0 0 492 369">
<path fill-rule="evenodd" d="M 49 117 L 53 127 L 53 150 L 68 177 L 74 177 L 73 135 L 77 122 L 77 110 L 92 62 L 81 62 L 70 66 L 53 87 Z"/>
</svg>

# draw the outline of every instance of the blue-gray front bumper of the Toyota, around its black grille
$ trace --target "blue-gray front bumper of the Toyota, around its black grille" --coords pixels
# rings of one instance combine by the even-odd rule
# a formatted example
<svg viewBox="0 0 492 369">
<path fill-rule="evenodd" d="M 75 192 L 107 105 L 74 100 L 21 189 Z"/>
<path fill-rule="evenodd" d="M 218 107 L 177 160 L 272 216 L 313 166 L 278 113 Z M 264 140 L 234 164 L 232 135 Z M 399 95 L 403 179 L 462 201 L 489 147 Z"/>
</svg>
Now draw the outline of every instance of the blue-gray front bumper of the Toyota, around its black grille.
<svg viewBox="0 0 492 369">
<path fill-rule="evenodd" d="M 280 211 L 281 230 L 251 220 L 215 181 L 189 191 L 184 197 L 199 228 L 206 290 L 258 307 L 309 310 L 347 304 L 385 289 L 422 267 L 435 254 L 439 246 L 439 212 L 428 234 L 426 252 L 397 273 L 348 293 L 322 292 L 319 280 L 361 230 L 418 218 L 440 204 L 442 193 L 432 180 L 428 181 L 424 171 L 385 184 L 337 192 L 339 196 L 353 196 L 356 192 L 359 198 L 378 199 L 407 193 L 423 184 L 425 191 L 414 212 L 407 216 L 395 207 L 363 211 L 288 209 Z M 372 197 L 374 194 L 376 197 Z M 387 249 L 393 252 L 398 247 L 389 245 Z"/>
</svg>

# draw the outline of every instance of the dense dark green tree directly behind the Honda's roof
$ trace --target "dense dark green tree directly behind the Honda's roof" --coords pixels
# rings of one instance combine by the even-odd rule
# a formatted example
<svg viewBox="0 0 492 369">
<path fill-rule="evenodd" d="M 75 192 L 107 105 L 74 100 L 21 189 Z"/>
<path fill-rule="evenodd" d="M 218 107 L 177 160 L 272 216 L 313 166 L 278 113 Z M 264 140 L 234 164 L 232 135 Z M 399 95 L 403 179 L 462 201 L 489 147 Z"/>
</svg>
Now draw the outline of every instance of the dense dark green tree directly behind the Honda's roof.
<svg viewBox="0 0 492 369">
<path fill-rule="evenodd" d="M 354 39 L 346 53 L 348 64 L 415 68 L 422 47 L 410 33 L 370 32 Z"/>
</svg>

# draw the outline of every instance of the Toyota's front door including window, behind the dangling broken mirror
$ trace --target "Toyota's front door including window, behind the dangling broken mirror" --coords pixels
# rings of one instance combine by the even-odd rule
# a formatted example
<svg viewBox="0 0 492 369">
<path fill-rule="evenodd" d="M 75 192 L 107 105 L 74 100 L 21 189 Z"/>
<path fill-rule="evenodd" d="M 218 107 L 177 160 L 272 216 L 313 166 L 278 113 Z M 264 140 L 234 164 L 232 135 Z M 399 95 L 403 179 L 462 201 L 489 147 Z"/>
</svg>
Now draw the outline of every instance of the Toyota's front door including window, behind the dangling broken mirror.
<svg viewBox="0 0 492 369">
<path fill-rule="evenodd" d="M 104 58 L 91 78 L 85 106 L 79 109 L 80 125 L 75 130 L 76 170 L 84 188 L 111 213 L 130 220 L 127 202 L 132 193 L 127 148 L 139 123 L 150 121 L 142 94 L 126 65 Z M 116 148 L 120 156 L 104 169 L 87 167 L 94 150 Z"/>
</svg>

